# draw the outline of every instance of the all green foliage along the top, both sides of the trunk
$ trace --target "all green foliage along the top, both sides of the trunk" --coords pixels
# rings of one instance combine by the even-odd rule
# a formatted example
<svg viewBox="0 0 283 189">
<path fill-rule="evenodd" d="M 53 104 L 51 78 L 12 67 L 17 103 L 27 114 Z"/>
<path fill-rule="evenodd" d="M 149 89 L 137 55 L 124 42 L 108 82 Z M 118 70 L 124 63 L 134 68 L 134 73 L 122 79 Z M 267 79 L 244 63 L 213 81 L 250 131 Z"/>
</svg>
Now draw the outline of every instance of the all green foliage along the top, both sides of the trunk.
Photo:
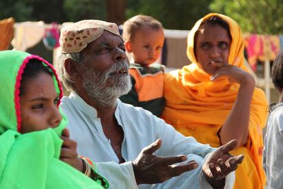
<svg viewBox="0 0 283 189">
<path fill-rule="evenodd" d="M 116 1 L 116 0 L 113 0 Z M 45 23 L 82 19 L 106 20 L 105 0 L 0 0 L 0 20 L 14 17 L 16 22 Z M 111 1 L 109 1 L 111 2 Z M 226 14 L 237 21 L 243 32 L 283 33 L 283 0 L 127 0 L 126 18 L 147 14 L 166 29 L 191 29 L 209 12 Z"/>
</svg>

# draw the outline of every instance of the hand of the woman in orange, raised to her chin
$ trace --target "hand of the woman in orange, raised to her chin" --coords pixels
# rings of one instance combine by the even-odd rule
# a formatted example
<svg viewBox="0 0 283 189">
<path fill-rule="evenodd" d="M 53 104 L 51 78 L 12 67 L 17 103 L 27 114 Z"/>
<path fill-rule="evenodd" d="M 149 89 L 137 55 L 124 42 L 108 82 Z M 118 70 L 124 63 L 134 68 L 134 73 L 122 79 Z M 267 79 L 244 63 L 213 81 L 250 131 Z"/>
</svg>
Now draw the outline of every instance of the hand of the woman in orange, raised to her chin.
<svg viewBox="0 0 283 189">
<path fill-rule="evenodd" d="M 237 60 L 236 60 L 237 61 Z M 230 64 L 218 64 L 218 62 L 211 62 L 214 66 L 219 66 L 219 70 L 211 77 L 211 81 L 215 81 L 219 77 L 228 77 L 230 82 L 236 82 L 238 84 L 249 84 L 255 86 L 254 77 L 243 71 L 237 66 L 231 66 Z"/>
</svg>

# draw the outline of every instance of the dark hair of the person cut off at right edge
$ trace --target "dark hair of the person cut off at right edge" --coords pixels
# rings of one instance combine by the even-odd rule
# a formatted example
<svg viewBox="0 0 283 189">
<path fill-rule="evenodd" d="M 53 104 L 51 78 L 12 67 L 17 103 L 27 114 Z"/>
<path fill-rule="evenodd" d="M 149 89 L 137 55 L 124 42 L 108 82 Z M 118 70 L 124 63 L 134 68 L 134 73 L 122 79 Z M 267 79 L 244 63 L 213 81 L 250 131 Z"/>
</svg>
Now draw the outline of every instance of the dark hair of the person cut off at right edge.
<svg viewBox="0 0 283 189">
<path fill-rule="evenodd" d="M 281 52 L 274 60 L 271 79 L 277 90 L 283 89 L 283 52 Z"/>
</svg>

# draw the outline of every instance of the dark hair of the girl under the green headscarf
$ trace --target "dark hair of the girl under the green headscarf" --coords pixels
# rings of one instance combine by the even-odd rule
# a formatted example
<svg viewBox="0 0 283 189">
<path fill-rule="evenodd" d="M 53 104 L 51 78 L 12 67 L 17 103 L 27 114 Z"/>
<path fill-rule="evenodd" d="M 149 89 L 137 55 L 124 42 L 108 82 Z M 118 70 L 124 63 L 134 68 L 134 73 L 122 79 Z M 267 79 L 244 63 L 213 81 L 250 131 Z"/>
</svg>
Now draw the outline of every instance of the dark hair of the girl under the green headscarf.
<svg viewBox="0 0 283 189">
<path fill-rule="evenodd" d="M 53 75 L 52 71 L 48 66 L 44 66 L 40 60 L 31 59 L 26 64 L 23 71 L 21 86 L 20 86 L 20 96 L 25 93 L 25 84 L 29 79 L 37 77 L 40 73 L 47 73 Z"/>
</svg>

